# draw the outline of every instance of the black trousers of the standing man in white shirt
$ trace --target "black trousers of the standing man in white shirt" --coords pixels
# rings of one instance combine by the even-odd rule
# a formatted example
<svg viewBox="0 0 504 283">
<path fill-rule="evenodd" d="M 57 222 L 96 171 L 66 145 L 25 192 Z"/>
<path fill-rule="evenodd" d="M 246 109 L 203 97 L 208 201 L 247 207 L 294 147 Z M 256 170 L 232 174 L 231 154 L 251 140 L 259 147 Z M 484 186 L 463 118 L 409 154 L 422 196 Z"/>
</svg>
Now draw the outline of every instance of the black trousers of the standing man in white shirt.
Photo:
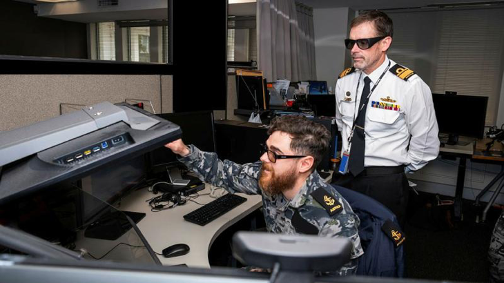
<svg viewBox="0 0 504 283">
<path fill-rule="evenodd" d="M 332 184 L 368 195 L 389 208 L 397 217 L 400 226 L 406 222 L 409 182 L 404 166 L 366 167 L 353 177 L 350 173 L 333 174 Z"/>
</svg>

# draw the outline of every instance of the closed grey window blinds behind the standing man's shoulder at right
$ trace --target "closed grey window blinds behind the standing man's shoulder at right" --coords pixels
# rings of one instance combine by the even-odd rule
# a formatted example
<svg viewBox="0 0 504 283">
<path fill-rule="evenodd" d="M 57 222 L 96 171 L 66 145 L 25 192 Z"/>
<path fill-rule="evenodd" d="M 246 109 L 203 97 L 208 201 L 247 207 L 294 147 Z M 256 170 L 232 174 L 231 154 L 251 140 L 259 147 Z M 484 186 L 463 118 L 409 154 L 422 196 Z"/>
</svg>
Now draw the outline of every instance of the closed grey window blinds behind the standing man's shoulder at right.
<svg viewBox="0 0 504 283">
<path fill-rule="evenodd" d="M 394 21 L 389 57 L 417 72 L 432 92 L 489 97 L 486 124 L 494 125 L 504 71 L 504 8 L 387 13 Z M 470 115 L 470 106 L 456 110 Z"/>
</svg>

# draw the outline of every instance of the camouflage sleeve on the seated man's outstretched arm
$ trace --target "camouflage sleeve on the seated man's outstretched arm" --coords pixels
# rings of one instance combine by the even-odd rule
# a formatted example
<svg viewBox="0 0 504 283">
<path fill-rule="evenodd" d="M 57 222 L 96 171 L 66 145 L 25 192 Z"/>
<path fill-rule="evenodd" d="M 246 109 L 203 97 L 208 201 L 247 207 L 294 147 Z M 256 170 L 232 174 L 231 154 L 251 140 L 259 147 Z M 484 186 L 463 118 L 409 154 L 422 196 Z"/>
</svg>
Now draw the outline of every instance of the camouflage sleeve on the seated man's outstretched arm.
<svg viewBox="0 0 504 283">
<path fill-rule="evenodd" d="M 261 162 L 243 165 L 229 160 L 223 162 L 217 158 L 216 153 L 201 151 L 193 145 L 188 148 L 191 153 L 179 157 L 179 161 L 193 170 L 204 182 L 224 188 L 230 193 L 261 194 L 258 184 Z"/>
</svg>

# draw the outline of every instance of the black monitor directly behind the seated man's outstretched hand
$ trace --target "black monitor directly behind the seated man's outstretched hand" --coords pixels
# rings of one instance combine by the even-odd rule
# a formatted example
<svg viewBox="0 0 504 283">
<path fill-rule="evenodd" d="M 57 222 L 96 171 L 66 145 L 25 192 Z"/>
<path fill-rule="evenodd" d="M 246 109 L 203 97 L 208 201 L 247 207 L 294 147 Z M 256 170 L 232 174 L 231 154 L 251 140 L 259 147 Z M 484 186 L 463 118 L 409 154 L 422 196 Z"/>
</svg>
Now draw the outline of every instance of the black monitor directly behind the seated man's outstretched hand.
<svg viewBox="0 0 504 283">
<path fill-rule="evenodd" d="M 184 144 L 193 144 L 200 150 L 215 153 L 215 133 L 213 112 L 211 110 L 158 114 L 157 116 L 180 126 Z M 153 150 L 150 157 L 152 170 L 166 172 L 166 167 L 173 167 L 178 164 L 175 154 L 165 147 Z"/>
</svg>

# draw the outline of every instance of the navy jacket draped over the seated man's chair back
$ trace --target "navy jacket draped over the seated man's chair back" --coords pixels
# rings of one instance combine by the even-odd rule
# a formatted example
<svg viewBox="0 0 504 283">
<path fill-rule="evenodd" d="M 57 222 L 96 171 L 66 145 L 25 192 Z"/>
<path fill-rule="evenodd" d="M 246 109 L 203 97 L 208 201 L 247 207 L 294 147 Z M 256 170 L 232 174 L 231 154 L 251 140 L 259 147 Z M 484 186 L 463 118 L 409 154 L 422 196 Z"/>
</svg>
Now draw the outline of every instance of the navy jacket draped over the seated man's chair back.
<svg viewBox="0 0 504 283">
<path fill-rule="evenodd" d="M 399 226 L 396 215 L 367 195 L 333 186 L 347 199 L 353 212 L 360 218 L 359 236 L 364 255 L 360 257 L 357 275 L 403 277 L 403 244 L 396 247 L 396 242 L 382 231 L 382 225 L 387 219 Z M 402 240 L 405 240 L 404 235 Z"/>
</svg>

